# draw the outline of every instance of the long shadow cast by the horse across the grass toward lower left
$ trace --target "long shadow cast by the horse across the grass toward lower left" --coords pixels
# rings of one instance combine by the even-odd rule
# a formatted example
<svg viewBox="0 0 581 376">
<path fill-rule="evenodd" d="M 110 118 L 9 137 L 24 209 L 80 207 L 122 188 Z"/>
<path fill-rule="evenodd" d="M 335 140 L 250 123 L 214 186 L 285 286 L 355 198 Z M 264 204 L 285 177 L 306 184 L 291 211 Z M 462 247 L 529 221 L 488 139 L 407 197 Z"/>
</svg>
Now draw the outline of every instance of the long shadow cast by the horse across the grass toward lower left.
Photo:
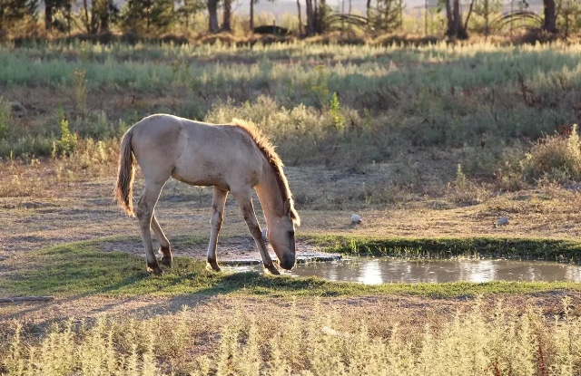
<svg viewBox="0 0 581 376">
<path fill-rule="evenodd" d="M 180 259 L 177 260 L 180 264 Z M 3 314 L 6 321 L 20 320 L 22 317 L 36 317 L 26 332 L 34 335 L 43 335 L 53 323 L 93 322 L 98 316 L 119 316 L 151 318 L 158 315 L 166 315 L 182 312 L 184 306 L 194 307 L 203 305 L 213 298 L 229 294 L 248 293 L 250 295 L 272 295 L 276 289 L 281 294 L 297 288 L 305 288 L 309 282 L 290 276 L 272 276 L 259 272 L 208 272 L 201 267 L 188 270 L 188 265 L 182 268 L 165 269 L 163 276 L 149 275 L 145 271 L 134 271 L 131 275 L 117 281 L 114 284 L 94 288 L 84 294 L 69 295 L 64 298 L 56 298 L 45 303 L 22 303 L 21 309 L 15 309 L 12 313 Z M 149 281 L 147 281 L 149 280 Z M 149 292 L 144 294 L 124 293 L 132 291 L 138 284 L 149 282 Z M 204 285 L 202 288 L 199 284 Z M 188 285 L 192 285 L 189 289 Z M 153 291 L 154 288 L 157 291 Z M 171 290 L 180 290 L 172 292 Z M 167 297 L 163 297 L 164 290 L 168 290 Z M 174 291 L 175 291 L 174 290 Z M 113 299 L 110 298 L 113 296 Z M 118 296 L 116 298 L 115 296 Z M 86 303 L 84 300 L 95 298 L 99 304 Z M 151 303 L 143 301 L 151 299 Z M 138 302 L 138 304 L 135 304 Z M 66 309 L 64 307 L 74 307 Z M 83 308 L 84 307 L 84 308 Z M 38 319 L 40 318 L 40 320 Z"/>
</svg>

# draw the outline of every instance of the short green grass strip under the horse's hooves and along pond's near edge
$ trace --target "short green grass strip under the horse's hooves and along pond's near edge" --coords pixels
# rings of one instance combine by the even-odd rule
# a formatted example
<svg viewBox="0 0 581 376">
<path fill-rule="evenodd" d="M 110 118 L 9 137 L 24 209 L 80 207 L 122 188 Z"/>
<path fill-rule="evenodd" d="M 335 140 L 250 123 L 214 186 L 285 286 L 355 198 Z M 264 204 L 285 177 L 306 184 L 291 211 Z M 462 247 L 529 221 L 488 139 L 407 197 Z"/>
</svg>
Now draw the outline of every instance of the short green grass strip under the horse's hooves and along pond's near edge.
<svg viewBox="0 0 581 376">
<path fill-rule="evenodd" d="M 174 259 L 172 270 L 148 275 L 142 257 L 103 252 L 96 242 L 79 242 L 39 250 L 20 260 L 0 277 L 0 290 L 14 295 L 137 295 L 242 294 L 261 296 L 354 296 L 418 294 L 475 296 L 521 294 L 555 289 L 581 290 L 575 283 L 458 282 L 447 284 L 380 284 L 329 282 L 320 278 L 271 276 L 260 273 L 212 273 L 205 263 L 187 257 Z"/>
</svg>

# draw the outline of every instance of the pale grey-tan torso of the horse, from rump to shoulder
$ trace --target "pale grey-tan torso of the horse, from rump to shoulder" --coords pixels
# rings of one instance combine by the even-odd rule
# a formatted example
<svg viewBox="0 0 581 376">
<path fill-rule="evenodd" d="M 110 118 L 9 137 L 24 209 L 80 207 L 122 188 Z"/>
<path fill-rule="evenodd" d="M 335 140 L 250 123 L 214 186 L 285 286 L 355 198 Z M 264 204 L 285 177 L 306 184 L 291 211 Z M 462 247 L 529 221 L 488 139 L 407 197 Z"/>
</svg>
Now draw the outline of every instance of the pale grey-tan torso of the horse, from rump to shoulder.
<svg viewBox="0 0 581 376">
<path fill-rule="evenodd" d="M 133 126 L 132 147 L 146 179 L 224 190 L 258 181 L 261 153 L 240 127 L 151 115 Z"/>
</svg>

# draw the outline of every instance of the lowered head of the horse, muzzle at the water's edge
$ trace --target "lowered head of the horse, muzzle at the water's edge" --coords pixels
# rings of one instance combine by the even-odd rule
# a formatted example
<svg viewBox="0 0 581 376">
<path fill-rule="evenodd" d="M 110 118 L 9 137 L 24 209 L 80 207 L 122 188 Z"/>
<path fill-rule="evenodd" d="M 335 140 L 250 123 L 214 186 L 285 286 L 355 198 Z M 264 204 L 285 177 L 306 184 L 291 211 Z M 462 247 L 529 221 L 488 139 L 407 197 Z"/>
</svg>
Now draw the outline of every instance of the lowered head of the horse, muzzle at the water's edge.
<svg viewBox="0 0 581 376">
<path fill-rule="evenodd" d="M 295 261 L 294 225 L 299 222 L 299 217 L 292 208 L 290 198 L 284 202 L 283 215 L 271 222 L 267 231 L 269 243 L 279 258 L 281 268 L 291 270 Z"/>
</svg>

